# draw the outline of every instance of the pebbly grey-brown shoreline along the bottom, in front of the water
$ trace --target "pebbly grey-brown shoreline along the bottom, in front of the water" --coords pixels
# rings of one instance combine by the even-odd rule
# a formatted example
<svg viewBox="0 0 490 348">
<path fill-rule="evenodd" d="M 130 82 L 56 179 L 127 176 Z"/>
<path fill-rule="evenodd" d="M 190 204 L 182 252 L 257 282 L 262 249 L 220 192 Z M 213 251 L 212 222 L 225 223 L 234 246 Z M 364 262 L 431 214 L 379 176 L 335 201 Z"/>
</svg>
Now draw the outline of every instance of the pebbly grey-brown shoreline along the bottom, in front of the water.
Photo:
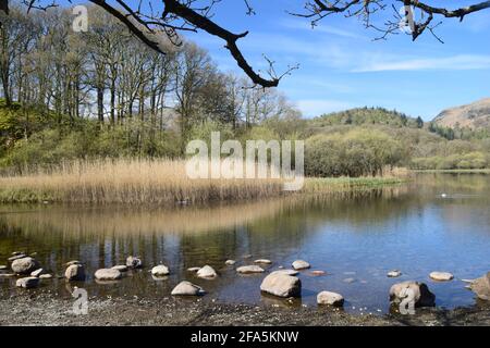
<svg viewBox="0 0 490 348">
<path fill-rule="evenodd" d="M 490 306 L 445 310 L 417 309 L 415 315 L 348 314 L 323 307 L 271 308 L 265 306 L 187 301 L 162 297 L 89 299 L 88 314 L 72 312 L 74 299 L 53 294 L 12 296 L 0 291 L 0 325 L 48 326 L 463 326 L 490 325 Z"/>
</svg>

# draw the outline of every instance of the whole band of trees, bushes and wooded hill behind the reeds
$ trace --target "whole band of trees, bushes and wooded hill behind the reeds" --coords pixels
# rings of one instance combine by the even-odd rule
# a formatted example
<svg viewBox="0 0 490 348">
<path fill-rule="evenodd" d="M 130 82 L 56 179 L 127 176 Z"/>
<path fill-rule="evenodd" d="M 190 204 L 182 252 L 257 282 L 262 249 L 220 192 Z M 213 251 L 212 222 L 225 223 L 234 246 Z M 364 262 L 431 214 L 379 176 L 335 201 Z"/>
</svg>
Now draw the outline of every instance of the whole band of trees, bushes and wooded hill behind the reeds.
<svg viewBox="0 0 490 348">
<path fill-rule="evenodd" d="M 182 158 L 188 140 L 213 130 L 222 140 L 304 139 L 311 176 L 489 166 L 487 130 L 445 129 L 381 108 L 304 120 L 277 89 L 220 71 L 193 42 L 161 42 L 160 54 L 95 7 L 88 32 L 73 32 L 72 21 L 70 9 L 13 8 L 2 17 L 1 167 Z"/>
</svg>

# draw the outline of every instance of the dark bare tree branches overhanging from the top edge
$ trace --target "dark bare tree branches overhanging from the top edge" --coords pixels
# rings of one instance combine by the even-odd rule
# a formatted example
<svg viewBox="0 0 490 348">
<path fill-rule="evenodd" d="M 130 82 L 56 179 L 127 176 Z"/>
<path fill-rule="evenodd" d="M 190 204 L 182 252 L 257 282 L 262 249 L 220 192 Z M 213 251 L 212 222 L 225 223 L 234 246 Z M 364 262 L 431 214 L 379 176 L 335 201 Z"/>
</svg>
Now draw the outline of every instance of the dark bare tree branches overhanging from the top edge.
<svg viewBox="0 0 490 348">
<path fill-rule="evenodd" d="M 56 5 L 56 0 L 49 4 L 42 4 L 45 0 L 22 0 L 28 10 L 40 9 L 46 10 Z M 248 32 L 235 34 L 220 26 L 212 20 L 212 9 L 216 8 L 221 0 L 139 0 L 136 5 L 132 5 L 127 0 L 89 0 L 90 2 L 101 7 L 107 12 L 119 18 L 125 26 L 138 37 L 143 42 L 152 49 L 164 53 L 160 47 L 158 35 L 166 34 L 174 45 L 180 45 L 180 32 L 197 32 L 206 33 L 222 39 L 225 48 L 230 51 L 232 58 L 245 74 L 256 85 L 262 87 L 275 87 L 280 79 L 289 75 L 292 70 L 289 69 L 283 74 L 275 74 L 272 66 L 268 70 L 268 77 L 264 77 L 256 72 L 247 62 L 237 41 L 247 36 Z M 145 1 L 145 5 L 143 4 Z M 329 15 L 342 14 L 347 17 L 358 17 L 367 28 L 375 29 L 380 34 L 377 39 L 385 39 L 389 35 L 404 33 L 404 28 L 408 27 L 413 40 L 416 40 L 425 32 L 431 33 L 437 40 L 443 42 L 437 36 L 434 29 L 442 23 L 432 22 L 436 18 L 463 18 L 471 13 L 490 9 L 490 1 L 477 2 L 468 7 L 458 9 L 439 8 L 427 3 L 424 0 L 297 0 L 304 3 L 303 13 L 291 13 L 295 16 L 305 17 L 311 21 L 315 26 L 319 21 Z M 111 4 L 112 2 L 113 4 Z M 243 0 L 246 13 L 255 14 L 252 4 L 253 0 Z M 154 4 L 163 5 L 159 11 L 154 9 Z M 396 5 L 399 4 L 399 5 Z M 0 0 L 0 10 L 8 13 L 8 0 Z M 120 9 L 118 9 L 119 7 Z M 144 9 L 144 10 L 142 10 Z M 149 10 L 148 10 L 149 9 Z M 405 15 L 401 15 L 400 10 L 405 11 Z M 382 14 L 385 11 L 393 11 L 391 18 L 383 18 L 383 24 L 373 21 L 373 16 Z M 417 13 L 415 13 L 417 12 Z M 1 25 L 1 23 L 0 23 Z M 271 64 L 272 61 L 269 61 Z"/>
</svg>

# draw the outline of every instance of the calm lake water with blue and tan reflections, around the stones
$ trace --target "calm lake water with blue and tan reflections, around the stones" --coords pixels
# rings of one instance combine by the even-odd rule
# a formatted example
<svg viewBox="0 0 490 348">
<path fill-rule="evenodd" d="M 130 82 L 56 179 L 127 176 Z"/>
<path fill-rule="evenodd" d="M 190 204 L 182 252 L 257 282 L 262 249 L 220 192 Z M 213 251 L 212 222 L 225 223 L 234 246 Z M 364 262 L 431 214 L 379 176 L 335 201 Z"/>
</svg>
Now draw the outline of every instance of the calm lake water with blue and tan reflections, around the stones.
<svg viewBox="0 0 490 348">
<path fill-rule="evenodd" d="M 389 310 L 392 284 L 416 279 L 428 284 L 440 307 L 470 306 L 474 294 L 461 279 L 490 270 L 490 175 L 419 174 L 409 184 L 344 197 L 174 210 L 0 206 L 0 264 L 15 250 L 37 252 L 36 259 L 54 274 L 63 274 L 70 260 L 84 262 L 85 283 L 46 279 L 33 290 L 63 297 L 77 285 L 89 296 L 158 299 L 187 279 L 207 290 L 205 301 L 316 306 L 317 293 L 332 290 L 345 297 L 346 311 L 366 307 L 365 312 L 379 313 Z M 114 284 L 94 281 L 97 269 L 124 264 L 128 254 L 140 256 L 146 268 Z M 259 258 L 273 261 L 267 271 L 304 259 L 327 274 L 303 271 L 303 297 L 290 304 L 260 294 L 264 274 L 234 271 Z M 224 265 L 228 259 L 236 260 L 235 266 Z M 149 270 L 160 262 L 172 274 L 154 279 Z M 205 281 L 186 271 L 204 264 L 219 277 Z M 394 269 L 403 275 L 387 277 Z M 432 271 L 451 272 L 455 279 L 430 281 Z M 14 282 L 0 278 L 0 287 L 11 295 L 25 291 Z"/>
</svg>

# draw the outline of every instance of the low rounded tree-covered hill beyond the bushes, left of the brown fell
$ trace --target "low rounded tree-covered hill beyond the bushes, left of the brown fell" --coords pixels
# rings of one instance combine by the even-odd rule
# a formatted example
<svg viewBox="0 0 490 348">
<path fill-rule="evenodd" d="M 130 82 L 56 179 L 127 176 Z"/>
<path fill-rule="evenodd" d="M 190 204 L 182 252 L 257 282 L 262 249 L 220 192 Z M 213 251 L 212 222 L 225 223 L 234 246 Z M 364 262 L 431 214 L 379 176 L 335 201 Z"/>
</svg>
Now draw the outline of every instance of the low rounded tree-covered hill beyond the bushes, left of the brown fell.
<svg viewBox="0 0 490 348">
<path fill-rule="evenodd" d="M 402 112 L 383 108 L 356 108 L 324 114 L 311 121 L 317 127 L 336 125 L 388 125 L 421 128 L 424 126 L 420 117 L 409 117 Z"/>
</svg>

